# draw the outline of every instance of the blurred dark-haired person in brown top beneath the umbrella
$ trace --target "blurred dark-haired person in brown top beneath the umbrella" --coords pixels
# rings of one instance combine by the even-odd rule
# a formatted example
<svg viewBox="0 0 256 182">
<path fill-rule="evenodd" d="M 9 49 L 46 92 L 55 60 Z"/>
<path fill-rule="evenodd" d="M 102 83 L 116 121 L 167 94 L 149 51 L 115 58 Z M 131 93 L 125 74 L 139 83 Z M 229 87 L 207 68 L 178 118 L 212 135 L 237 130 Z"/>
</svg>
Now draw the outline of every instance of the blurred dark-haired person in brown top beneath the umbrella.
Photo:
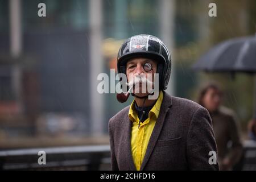
<svg viewBox="0 0 256 182">
<path fill-rule="evenodd" d="M 199 95 L 199 104 L 212 117 L 217 143 L 220 170 L 232 170 L 242 155 L 242 143 L 234 112 L 221 105 L 222 91 L 215 83 L 205 85 Z M 231 146 L 230 146 L 231 144 Z"/>
</svg>

